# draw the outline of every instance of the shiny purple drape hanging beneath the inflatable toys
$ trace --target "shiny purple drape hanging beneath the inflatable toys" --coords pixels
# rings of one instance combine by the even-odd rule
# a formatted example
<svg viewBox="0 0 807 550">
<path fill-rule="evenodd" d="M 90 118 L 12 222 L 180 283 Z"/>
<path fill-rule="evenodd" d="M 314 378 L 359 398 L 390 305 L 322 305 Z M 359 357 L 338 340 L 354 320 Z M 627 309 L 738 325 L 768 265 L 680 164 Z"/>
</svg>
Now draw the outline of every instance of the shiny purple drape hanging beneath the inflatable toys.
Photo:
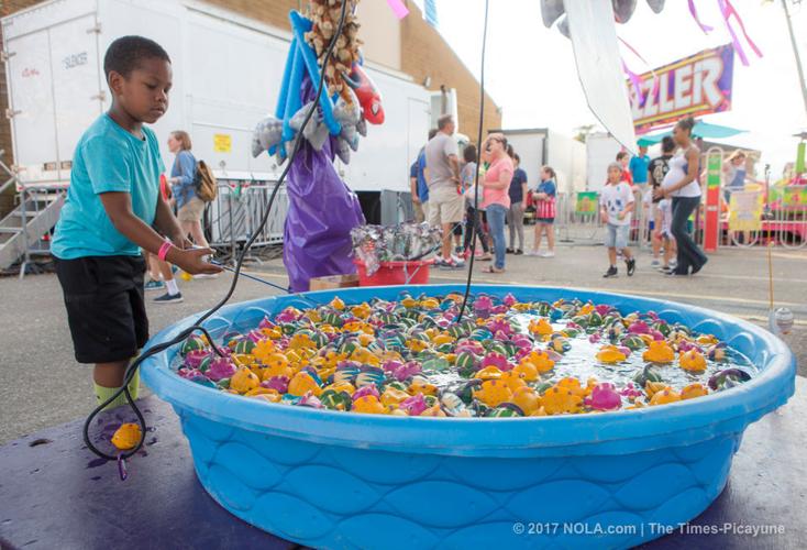
<svg viewBox="0 0 807 550">
<path fill-rule="evenodd" d="M 306 77 L 302 105 L 317 90 Z M 310 123 L 310 122 L 309 122 Z M 351 230 L 364 223 L 358 198 L 333 166 L 335 139 L 316 151 L 300 144 L 287 178 L 289 209 L 284 228 L 283 262 L 292 292 L 306 292 L 311 277 L 355 273 Z"/>
</svg>

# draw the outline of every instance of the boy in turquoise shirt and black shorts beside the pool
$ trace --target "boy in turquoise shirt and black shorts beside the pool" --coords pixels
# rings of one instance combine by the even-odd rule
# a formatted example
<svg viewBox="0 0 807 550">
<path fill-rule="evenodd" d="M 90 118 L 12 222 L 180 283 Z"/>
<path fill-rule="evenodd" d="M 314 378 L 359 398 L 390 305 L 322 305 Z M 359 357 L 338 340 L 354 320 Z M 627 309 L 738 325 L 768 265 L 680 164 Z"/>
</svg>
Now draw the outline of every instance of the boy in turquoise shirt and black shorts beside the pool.
<svg viewBox="0 0 807 550">
<path fill-rule="evenodd" d="M 190 243 L 159 195 L 165 166 L 143 123 L 168 109 L 168 54 L 151 40 L 124 36 L 109 46 L 103 70 L 112 107 L 76 146 L 52 246 L 76 360 L 95 363 L 99 404 L 123 384 L 130 360 L 148 340 L 141 248 L 188 273 L 221 271 L 202 258 L 211 250 L 186 250 Z M 132 397 L 137 386 L 132 380 Z M 109 406 L 123 403 L 121 395 Z"/>
</svg>

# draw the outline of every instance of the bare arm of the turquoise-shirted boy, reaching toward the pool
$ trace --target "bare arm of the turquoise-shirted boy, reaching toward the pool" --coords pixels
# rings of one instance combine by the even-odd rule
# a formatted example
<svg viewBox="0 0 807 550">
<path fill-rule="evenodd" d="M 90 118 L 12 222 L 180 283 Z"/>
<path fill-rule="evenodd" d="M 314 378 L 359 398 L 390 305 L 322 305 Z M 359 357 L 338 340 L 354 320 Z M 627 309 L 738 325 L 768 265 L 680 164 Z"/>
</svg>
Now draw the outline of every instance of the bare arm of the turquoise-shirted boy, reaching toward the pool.
<svg viewBox="0 0 807 550">
<path fill-rule="evenodd" d="M 165 241 L 156 231 L 134 215 L 132 211 L 132 196 L 130 194 L 123 191 L 101 193 L 99 194 L 99 198 L 112 226 L 118 231 L 152 254 L 159 252 Z M 210 249 L 181 250 L 175 246 L 168 251 L 166 260 L 191 275 L 198 273 L 219 273 L 221 267 L 202 260 L 203 256 L 212 253 L 213 251 Z"/>
</svg>

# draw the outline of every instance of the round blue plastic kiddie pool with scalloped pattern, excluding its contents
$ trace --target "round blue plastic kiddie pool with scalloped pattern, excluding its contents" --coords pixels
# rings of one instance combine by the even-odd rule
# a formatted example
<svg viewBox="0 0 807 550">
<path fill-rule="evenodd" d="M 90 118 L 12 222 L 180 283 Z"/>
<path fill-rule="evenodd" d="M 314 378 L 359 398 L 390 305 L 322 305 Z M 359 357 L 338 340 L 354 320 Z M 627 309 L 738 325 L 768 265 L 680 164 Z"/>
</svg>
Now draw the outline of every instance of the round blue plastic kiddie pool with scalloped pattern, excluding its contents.
<svg viewBox="0 0 807 550">
<path fill-rule="evenodd" d="M 245 331 L 288 306 L 445 295 L 456 285 L 339 289 L 235 304 L 207 321 Z M 662 536 L 720 494 L 745 427 L 794 393 L 796 363 L 765 330 L 715 311 L 618 294 L 476 285 L 654 310 L 717 336 L 760 369 L 745 384 L 639 410 L 524 418 L 345 414 L 244 399 L 180 378 L 178 345 L 143 364 L 170 403 L 199 481 L 250 524 L 316 548 L 615 548 Z M 189 317 L 155 336 L 162 342 Z"/>
</svg>

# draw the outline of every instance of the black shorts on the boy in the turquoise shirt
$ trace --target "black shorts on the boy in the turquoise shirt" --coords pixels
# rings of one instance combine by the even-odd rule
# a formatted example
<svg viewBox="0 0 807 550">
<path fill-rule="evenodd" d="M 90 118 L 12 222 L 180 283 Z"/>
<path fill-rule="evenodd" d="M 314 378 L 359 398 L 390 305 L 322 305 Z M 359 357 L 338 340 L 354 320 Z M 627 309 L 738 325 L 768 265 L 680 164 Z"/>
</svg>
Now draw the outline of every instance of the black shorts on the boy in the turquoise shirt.
<svg viewBox="0 0 807 550">
<path fill-rule="evenodd" d="M 76 361 L 132 359 L 148 340 L 143 256 L 56 260 Z"/>
</svg>

